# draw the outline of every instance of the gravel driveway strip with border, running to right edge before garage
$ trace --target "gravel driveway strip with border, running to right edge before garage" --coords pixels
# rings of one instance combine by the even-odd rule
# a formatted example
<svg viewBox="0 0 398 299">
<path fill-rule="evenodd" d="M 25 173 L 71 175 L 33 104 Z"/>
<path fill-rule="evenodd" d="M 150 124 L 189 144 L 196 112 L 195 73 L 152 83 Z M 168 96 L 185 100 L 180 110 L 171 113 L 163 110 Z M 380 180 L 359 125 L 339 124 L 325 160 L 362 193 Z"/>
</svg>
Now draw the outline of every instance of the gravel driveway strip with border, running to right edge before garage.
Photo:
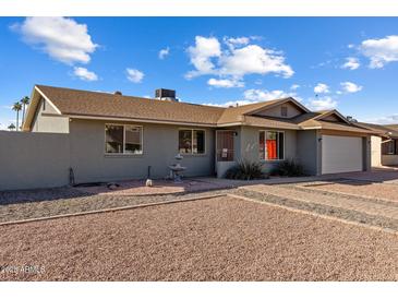
<svg viewBox="0 0 398 299">
<path fill-rule="evenodd" d="M 241 187 L 234 193 L 258 201 L 398 231 L 398 202 L 312 188 L 312 186 L 325 183 L 336 182 L 253 184 Z M 388 187 L 389 184 L 381 184 L 381 192 L 383 192 L 383 188 Z"/>
</svg>

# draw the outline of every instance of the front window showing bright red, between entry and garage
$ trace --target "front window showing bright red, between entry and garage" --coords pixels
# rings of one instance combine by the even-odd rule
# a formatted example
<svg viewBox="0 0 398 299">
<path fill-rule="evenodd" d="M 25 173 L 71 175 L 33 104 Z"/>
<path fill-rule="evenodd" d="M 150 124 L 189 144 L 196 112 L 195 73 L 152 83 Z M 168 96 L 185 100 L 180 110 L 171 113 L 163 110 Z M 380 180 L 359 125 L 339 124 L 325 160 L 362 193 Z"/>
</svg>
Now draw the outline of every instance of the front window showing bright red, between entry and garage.
<svg viewBox="0 0 398 299">
<path fill-rule="evenodd" d="M 281 160 L 285 158 L 285 133 L 278 131 L 260 131 L 260 159 Z"/>
</svg>

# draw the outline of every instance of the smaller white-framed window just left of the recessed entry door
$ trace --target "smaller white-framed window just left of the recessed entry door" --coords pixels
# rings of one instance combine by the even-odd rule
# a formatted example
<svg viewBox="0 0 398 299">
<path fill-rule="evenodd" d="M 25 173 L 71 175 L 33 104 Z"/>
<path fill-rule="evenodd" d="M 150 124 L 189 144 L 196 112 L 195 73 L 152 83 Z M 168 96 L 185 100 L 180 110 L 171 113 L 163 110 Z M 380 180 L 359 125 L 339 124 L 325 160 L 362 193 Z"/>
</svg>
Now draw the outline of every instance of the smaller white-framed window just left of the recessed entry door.
<svg viewBox="0 0 398 299">
<path fill-rule="evenodd" d="M 204 154 L 205 131 L 204 130 L 180 130 L 179 152 L 181 154 Z"/>
</svg>

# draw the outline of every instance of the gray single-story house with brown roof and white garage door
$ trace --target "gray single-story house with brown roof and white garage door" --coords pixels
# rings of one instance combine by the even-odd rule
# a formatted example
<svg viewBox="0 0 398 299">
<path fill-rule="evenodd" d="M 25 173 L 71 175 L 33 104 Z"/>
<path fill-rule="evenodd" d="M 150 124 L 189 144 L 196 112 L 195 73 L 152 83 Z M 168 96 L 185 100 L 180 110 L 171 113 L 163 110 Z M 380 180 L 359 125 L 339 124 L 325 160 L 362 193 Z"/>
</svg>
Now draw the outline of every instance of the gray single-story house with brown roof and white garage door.
<svg viewBox="0 0 398 299">
<path fill-rule="evenodd" d="M 157 96 L 36 85 L 23 131 L 68 134 L 76 182 L 145 178 L 149 167 L 162 178 L 178 153 L 185 176 L 222 177 L 239 159 L 265 171 L 296 159 L 309 175 L 371 168 L 374 131 L 337 110 L 310 111 L 292 97 L 224 108 Z"/>
</svg>

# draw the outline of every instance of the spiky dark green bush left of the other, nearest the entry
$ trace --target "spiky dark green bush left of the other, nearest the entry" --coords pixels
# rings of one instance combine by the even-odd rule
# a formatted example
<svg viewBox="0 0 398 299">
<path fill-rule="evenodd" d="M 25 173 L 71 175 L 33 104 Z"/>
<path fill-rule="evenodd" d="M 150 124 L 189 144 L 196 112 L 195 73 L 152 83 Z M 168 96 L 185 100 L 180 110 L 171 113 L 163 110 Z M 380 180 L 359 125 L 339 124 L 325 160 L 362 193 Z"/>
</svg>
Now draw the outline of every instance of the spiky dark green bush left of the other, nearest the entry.
<svg viewBox="0 0 398 299">
<path fill-rule="evenodd" d="M 229 168 L 225 175 L 226 179 L 231 180 L 255 180 L 265 179 L 266 175 L 262 171 L 262 165 L 255 162 L 239 160 L 237 165 Z"/>
</svg>

